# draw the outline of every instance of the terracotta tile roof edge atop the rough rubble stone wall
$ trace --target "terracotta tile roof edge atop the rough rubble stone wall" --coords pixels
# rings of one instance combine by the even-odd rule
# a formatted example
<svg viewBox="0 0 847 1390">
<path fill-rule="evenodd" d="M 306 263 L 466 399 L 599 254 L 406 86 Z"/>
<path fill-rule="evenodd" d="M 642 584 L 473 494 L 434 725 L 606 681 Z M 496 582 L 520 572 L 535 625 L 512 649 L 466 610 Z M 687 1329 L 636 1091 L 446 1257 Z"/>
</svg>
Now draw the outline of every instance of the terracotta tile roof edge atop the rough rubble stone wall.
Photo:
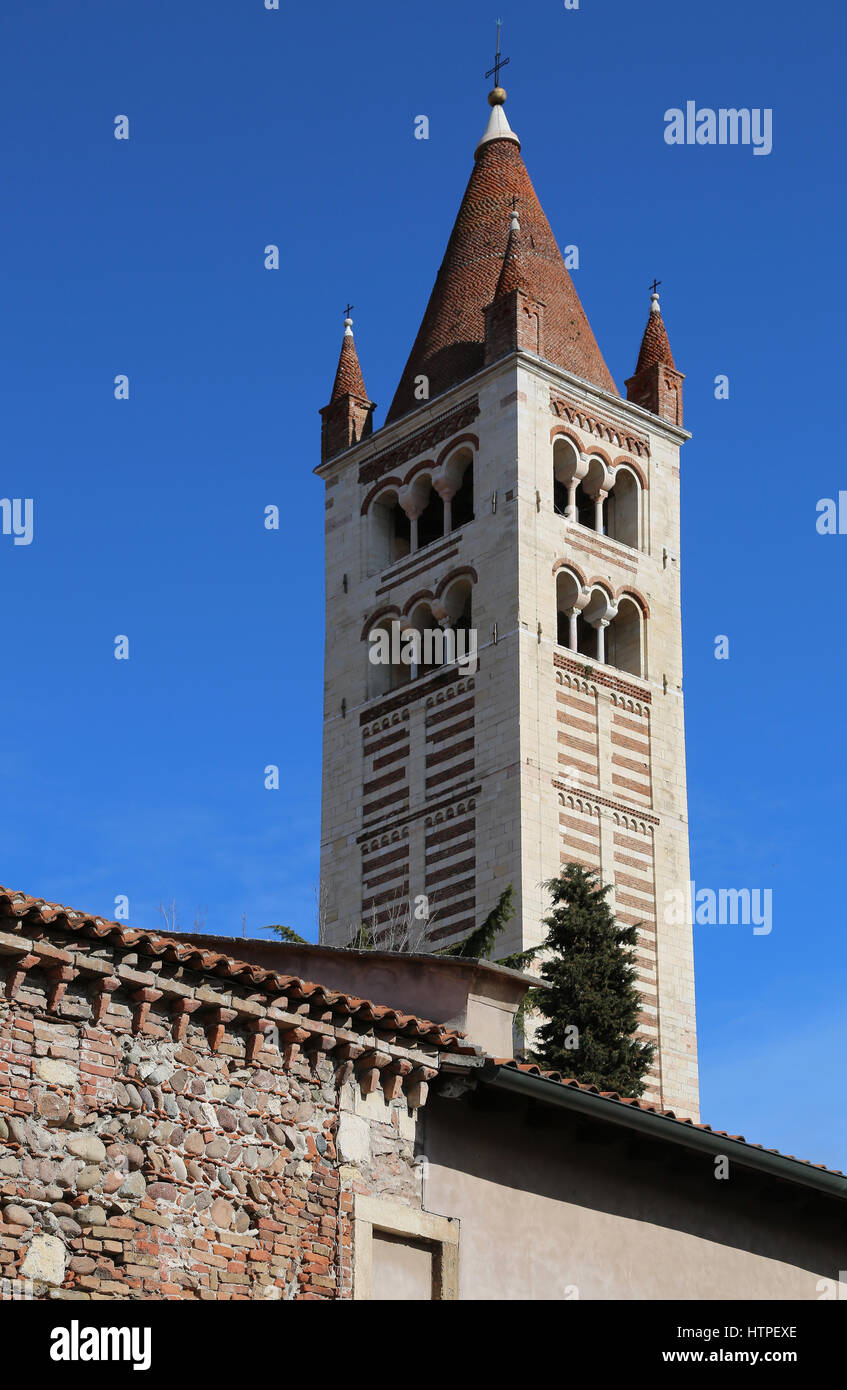
<svg viewBox="0 0 847 1390">
<path fill-rule="evenodd" d="M 192 969 L 202 970 L 236 983 L 257 986 L 267 994 L 284 994 L 303 1002 L 324 1004 L 352 1017 L 373 1023 L 380 1029 L 394 1030 L 403 1037 L 433 1044 L 444 1052 L 459 1052 L 476 1055 L 478 1048 L 467 1041 L 463 1033 L 455 1029 L 445 1029 L 439 1023 L 428 1019 L 419 1019 L 413 1013 L 402 1013 L 384 1004 L 374 1004 L 371 999 L 360 999 L 357 995 L 342 994 L 338 990 L 327 990 L 312 980 L 300 980 L 298 976 L 280 974 L 275 970 L 264 970 L 261 966 L 238 960 L 235 956 L 224 955 L 218 951 L 204 951 L 195 944 L 181 942 L 175 935 L 139 931 L 124 926 L 120 922 L 108 922 L 104 917 L 90 916 L 76 912 L 74 908 L 63 908 L 56 902 L 46 902 L 43 898 L 31 898 L 24 892 L 13 892 L 0 887 L 0 931 L 7 923 L 18 927 L 26 920 L 26 926 L 36 923 L 57 926 L 61 930 L 76 933 L 93 941 L 107 941 L 118 947 L 131 947 L 140 955 L 157 956 L 170 962 L 179 962 Z"/>
</svg>

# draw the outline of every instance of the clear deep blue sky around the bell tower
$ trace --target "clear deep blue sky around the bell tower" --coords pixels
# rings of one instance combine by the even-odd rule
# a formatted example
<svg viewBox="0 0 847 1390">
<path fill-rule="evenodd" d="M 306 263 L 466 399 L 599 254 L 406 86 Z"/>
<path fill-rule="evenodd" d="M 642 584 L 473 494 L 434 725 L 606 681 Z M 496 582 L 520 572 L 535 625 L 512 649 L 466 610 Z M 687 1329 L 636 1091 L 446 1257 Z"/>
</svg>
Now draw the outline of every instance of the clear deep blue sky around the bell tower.
<svg viewBox="0 0 847 1390">
<path fill-rule="evenodd" d="M 0 877 L 104 916 L 127 894 L 138 926 L 175 899 L 185 927 L 313 931 L 317 409 L 349 297 L 384 418 L 499 14 L 509 118 L 615 379 L 654 275 L 687 374 L 693 874 L 773 891 L 771 935 L 695 929 L 704 1118 L 847 1168 L 847 535 L 815 530 L 847 489 L 844 13 L 497 3 L 6 7 L 0 491 L 33 498 L 35 537 L 0 535 Z M 773 152 L 665 145 L 687 100 L 772 108 Z"/>
</svg>

